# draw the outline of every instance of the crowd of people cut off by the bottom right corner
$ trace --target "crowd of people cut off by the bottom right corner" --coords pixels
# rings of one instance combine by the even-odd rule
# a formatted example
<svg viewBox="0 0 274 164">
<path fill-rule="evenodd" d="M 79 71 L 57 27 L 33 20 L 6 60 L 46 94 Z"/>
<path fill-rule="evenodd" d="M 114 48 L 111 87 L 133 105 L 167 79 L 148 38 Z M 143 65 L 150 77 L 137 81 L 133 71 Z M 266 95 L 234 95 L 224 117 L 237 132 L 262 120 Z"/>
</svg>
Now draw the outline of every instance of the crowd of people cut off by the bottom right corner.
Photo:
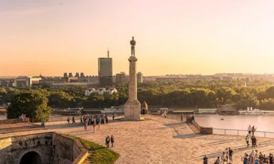
<svg viewBox="0 0 274 164">
<path fill-rule="evenodd" d="M 244 164 L 274 164 L 273 154 L 270 153 L 269 156 L 266 156 L 262 152 L 258 153 L 258 150 L 252 150 L 250 154 L 245 153 L 242 162 Z"/>
</svg>

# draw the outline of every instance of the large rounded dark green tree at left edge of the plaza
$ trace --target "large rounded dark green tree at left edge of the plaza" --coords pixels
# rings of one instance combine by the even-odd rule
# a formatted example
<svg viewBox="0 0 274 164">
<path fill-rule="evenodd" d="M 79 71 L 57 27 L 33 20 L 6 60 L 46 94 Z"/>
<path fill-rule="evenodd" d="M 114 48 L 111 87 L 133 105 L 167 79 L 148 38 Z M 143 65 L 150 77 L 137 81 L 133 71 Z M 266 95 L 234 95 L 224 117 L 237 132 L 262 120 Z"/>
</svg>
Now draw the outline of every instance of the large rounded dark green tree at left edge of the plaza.
<svg viewBox="0 0 274 164">
<path fill-rule="evenodd" d="M 26 114 L 34 122 L 49 120 L 51 108 L 47 106 L 47 97 L 41 92 L 24 91 L 15 94 L 10 102 L 11 105 L 8 107 L 9 119 L 19 118 L 22 114 Z"/>
</svg>

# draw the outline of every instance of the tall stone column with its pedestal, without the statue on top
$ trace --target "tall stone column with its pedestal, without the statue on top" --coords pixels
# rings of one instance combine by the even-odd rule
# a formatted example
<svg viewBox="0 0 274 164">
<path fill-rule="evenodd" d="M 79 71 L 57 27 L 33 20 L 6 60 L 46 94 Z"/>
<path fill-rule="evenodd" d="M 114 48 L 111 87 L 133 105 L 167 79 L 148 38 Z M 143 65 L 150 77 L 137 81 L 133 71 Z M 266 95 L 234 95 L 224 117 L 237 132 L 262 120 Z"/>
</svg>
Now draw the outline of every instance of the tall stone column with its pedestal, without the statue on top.
<svg viewBox="0 0 274 164">
<path fill-rule="evenodd" d="M 134 56 L 129 57 L 129 98 L 125 102 L 125 118 L 127 121 L 141 120 L 140 102 L 137 99 L 136 61 Z"/>
</svg>

